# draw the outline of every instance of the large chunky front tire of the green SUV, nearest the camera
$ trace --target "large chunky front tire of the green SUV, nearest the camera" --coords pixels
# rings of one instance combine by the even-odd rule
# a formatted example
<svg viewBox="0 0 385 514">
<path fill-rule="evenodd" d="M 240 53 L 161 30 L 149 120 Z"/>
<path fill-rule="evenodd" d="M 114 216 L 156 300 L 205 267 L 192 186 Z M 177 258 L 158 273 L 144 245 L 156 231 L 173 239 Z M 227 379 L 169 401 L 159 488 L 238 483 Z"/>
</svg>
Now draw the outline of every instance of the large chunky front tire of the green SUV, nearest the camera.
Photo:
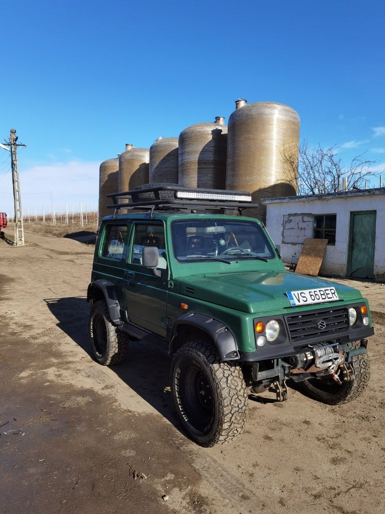
<svg viewBox="0 0 385 514">
<path fill-rule="evenodd" d="M 191 387 L 189 376 L 194 372 L 198 375 L 195 382 L 204 382 L 210 397 L 209 407 L 203 407 L 209 416 L 209 421 L 207 418 L 201 421 L 207 424 L 204 428 L 200 426 L 199 416 L 191 414 L 194 410 L 190 408 L 192 398 L 199 398 L 197 389 L 201 387 L 199 384 Z M 200 377 L 203 377 L 202 382 Z M 221 362 L 213 341 L 195 340 L 184 344 L 172 359 L 170 384 L 178 416 L 196 443 L 210 447 L 227 443 L 242 433 L 247 419 L 248 395 L 241 366 L 235 362 Z M 202 399 L 198 402 L 202 403 Z"/>
</svg>

